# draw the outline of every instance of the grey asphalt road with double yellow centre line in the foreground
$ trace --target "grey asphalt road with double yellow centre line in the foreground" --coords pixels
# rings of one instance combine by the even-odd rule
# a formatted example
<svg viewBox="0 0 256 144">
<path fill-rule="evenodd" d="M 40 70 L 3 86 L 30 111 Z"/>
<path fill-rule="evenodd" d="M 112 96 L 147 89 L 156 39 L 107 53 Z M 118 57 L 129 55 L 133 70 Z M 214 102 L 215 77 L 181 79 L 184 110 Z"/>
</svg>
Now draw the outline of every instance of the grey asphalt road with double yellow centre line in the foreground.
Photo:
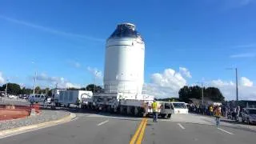
<svg viewBox="0 0 256 144">
<path fill-rule="evenodd" d="M 71 122 L 0 139 L 1 144 L 253 144 L 256 133 L 228 126 L 77 113 Z"/>
</svg>

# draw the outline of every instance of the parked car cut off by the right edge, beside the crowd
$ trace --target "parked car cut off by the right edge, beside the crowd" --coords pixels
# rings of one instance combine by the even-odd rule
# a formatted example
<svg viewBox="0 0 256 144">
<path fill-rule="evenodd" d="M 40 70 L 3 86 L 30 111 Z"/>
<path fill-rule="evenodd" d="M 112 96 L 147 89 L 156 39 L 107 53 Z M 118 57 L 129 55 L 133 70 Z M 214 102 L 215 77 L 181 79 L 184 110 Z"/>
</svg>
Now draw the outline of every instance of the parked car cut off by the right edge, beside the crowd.
<svg viewBox="0 0 256 144">
<path fill-rule="evenodd" d="M 242 122 L 256 123 L 256 108 L 242 109 Z"/>
</svg>

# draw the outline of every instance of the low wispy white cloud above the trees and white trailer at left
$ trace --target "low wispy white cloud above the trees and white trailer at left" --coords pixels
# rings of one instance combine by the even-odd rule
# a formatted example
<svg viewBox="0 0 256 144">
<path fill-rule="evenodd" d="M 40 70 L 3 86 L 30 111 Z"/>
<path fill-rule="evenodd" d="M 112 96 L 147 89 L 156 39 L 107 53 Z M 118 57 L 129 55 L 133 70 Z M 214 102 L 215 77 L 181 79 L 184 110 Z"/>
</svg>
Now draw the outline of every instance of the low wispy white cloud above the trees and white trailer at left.
<svg viewBox="0 0 256 144">
<path fill-rule="evenodd" d="M 34 78 L 34 77 L 32 77 Z M 58 88 L 81 88 L 82 86 L 80 84 L 71 83 L 66 78 L 63 77 L 50 77 L 45 73 L 38 74 L 37 75 L 37 85 L 41 85 L 42 87 L 46 86 L 43 85 L 40 82 L 46 82 L 46 84 L 50 87 L 55 87 L 56 83 L 58 83 Z"/>
</svg>

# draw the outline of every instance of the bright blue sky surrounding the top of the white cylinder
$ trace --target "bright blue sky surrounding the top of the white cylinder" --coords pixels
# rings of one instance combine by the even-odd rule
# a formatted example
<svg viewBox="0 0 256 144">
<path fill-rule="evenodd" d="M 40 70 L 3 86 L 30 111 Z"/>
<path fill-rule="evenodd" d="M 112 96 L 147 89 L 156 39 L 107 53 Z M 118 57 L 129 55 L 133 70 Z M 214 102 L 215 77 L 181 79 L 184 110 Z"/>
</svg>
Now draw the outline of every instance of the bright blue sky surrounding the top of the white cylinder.
<svg viewBox="0 0 256 144">
<path fill-rule="evenodd" d="M 178 86 L 217 80 L 232 85 L 234 71 L 226 67 L 238 67 L 239 80 L 254 87 L 255 14 L 254 0 L 0 0 L 0 76 L 31 86 L 37 70 L 46 80 L 41 85 L 62 80 L 83 86 L 98 71 L 102 83 L 106 38 L 118 23 L 132 22 L 146 41 L 146 83 L 170 86 L 154 74 L 175 70 L 185 79 Z"/>
</svg>

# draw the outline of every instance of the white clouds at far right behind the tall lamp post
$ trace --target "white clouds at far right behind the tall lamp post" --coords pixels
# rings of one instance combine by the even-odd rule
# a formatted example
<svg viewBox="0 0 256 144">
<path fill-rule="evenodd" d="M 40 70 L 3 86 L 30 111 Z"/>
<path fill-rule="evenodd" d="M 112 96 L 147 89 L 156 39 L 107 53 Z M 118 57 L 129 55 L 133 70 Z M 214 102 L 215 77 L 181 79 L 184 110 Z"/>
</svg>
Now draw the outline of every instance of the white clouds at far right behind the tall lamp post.
<svg viewBox="0 0 256 144">
<path fill-rule="evenodd" d="M 222 94 L 226 100 L 236 99 L 236 87 L 234 82 L 225 82 L 218 79 L 211 81 L 210 85 L 218 87 L 222 91 Z M 253 83 L 248 78 L 241 78 L 241 82 L 238 85 L 238 99 L 256 100 L 256 87 L 253 86 Z"/>
</svg>

